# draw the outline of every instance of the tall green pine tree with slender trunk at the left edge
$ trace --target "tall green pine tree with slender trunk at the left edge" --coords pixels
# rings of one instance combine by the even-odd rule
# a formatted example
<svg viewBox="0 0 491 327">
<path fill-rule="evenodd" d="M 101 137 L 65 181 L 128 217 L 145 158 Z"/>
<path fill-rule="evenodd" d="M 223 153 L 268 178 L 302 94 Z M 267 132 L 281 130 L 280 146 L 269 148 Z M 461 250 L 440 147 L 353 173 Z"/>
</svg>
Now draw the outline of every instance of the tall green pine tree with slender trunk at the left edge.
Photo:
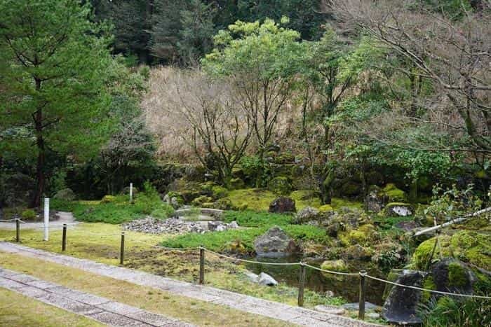
<svg viewBox="0 0 491 327">
<path fill-rule="evenodd" d="M 8 85 L 0 151 L 22 143 L 20 151 L 36 156 L 39 206 L 46 155 L 82 158 L 104 139 L 110 39 L 77 0 L 5 0 L 0 12 L 0 85 Z"/>
</svg>

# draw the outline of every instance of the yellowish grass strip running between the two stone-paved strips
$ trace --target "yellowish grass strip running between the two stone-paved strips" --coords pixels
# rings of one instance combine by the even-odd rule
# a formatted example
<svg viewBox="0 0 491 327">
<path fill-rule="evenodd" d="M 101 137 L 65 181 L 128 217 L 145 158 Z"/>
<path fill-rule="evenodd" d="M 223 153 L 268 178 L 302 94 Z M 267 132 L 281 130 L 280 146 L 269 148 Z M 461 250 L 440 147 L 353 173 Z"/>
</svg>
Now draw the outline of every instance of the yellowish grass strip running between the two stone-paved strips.
<svg viewBox="0 0 491 327">
<path fill-rule="evenodd" d="M 30 274 L 39 279 L 100 295 L 150 312 L 172 316 L 199 326 L 288 326 L 287 323 L 276 319 L 269 319 L 257 314 L 248 314 L 229 307 L 186 298 L 174 293 L 159 291 L 118 279 L 101 277 L 97 274 L 48 263 L 43 260 L 16 256 L 14 253 L 0 252 L 0 265 L 11 270 Z M 5 302 L 2 300 L 2 303 Z M 27 310 L 32 312 L 32 314 L 28 315 L 29 317 L 35 316 L 35 311 L 32 308 L 27 308 Z M 25 312 L 18 313 L 19 316 L 22 316 L 22 314 L 25 315 Z M 49 323 L 49 325 L 56 326 L 57 323 Z M 67 326 L 69 324 L 62 323 L 62 325 Z M 26 325 L 21 323 L 15 326 Z M 33 326 L 39 325 L 34 324 Z M 88 324 L 80 326 L 88 326 Z"/>
</svg>

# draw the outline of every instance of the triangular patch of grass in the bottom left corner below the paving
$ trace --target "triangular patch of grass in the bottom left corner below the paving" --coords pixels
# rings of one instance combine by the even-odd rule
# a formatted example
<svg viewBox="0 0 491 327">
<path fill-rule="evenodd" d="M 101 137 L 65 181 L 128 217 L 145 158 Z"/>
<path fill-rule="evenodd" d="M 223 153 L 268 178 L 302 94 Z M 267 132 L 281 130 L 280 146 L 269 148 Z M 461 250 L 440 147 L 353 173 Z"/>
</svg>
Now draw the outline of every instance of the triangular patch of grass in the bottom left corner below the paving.
<svg viewBox="0 0 491 327">
<path fill-rule="evenodd" d="M 15 267 L 13 267 L 15 269 Z M 0 326 L 105 326 L 79 314 L 0 288 Z"/>
</svg>

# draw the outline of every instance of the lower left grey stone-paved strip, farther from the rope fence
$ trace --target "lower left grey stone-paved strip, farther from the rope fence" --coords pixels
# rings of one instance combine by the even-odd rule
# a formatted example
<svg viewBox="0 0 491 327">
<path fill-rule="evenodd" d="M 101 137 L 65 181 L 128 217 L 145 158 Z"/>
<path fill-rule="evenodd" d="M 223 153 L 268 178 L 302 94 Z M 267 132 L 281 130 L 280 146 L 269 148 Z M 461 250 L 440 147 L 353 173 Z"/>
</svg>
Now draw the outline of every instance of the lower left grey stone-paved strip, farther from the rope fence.
<svg viewBox="0 0 491 327">
<path fill-rule="evenodd" d="M 109 326 L 192 326 L 161 314 L 75 291 L 2 267 L 0 267 L 0 287 L 87 316 Z"/>
</svg>

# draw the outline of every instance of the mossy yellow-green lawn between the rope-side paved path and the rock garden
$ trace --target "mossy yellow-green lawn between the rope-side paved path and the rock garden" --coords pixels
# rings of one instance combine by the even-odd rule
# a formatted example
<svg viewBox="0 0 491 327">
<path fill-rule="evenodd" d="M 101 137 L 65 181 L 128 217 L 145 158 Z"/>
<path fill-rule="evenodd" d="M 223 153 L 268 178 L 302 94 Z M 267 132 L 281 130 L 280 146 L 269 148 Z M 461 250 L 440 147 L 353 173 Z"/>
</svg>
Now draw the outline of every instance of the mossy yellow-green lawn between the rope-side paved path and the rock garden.
<svg viewBox="0 0 491 327">
<path fill-rule="evenodd" d="M 65 254 L 77 258 L 88 258 L 109 265 L 119 265 L 120 232 L 121 227 L 119 225 L 106 223 L 81 223 L 75 227 L 72 226 L 67 230 L 67 251 Z M 114 236 L 102 237 L 91 233 Z M 217 237 L 214 235 L 219 235 L 217 242 L 222 242 L 223 239 L 220 237 L 222 233 L 224 232 L 213 232 L 201 236 Z M 22 244 L 57 253 L 62 253 L 61 235 L 61 230 L 53 230 L 50 232 L 49 241 L 43 242 L 42 230 L 21 230 L 20 233 Z M 14 238 L 15 230 L 0 230 L 0 240 L 13 242 Z M 171 239 L 180 238 L 126 232 L 125 266 L 165 277 L 196 282 L 199 278 L 199 251 L 164 251 L 151 246 L 152 244 L 159 244 L 162 239 L 167 239 L 170 242 Z M 211 254 L 206 256 L 206 284 L 289 305 L 297 304 L 297 288 L 285 284 L 280 284 L 277 287 L 260 286 L 249 281 L 244 272 L 245 268 L 242 265 L 224 261 Z M 327 298 L 309 290 L 305 291 L 304 297 L 305 307 L 342 302 L 339 298 Z"/>
</svg>

